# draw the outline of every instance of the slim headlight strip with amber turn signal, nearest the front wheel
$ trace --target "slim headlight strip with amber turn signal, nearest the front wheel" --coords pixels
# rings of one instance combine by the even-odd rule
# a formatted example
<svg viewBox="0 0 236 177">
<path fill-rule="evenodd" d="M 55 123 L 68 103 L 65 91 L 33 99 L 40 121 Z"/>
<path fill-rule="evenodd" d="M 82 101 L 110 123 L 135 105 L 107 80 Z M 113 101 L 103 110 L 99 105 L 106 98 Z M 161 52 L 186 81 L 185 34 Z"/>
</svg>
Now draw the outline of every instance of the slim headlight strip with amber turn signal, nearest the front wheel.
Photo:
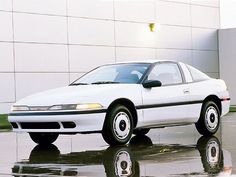
<svg viewBox="0 0 236 177">
<path fill-rule="evenodd" d="M 49 110 L 91 110 L 101 109 L 102 105 L 98 103 L 87 103 L 87 104 L 68 104 L 68 105 L 55 105 L 49 108 Z"/>
</svg>

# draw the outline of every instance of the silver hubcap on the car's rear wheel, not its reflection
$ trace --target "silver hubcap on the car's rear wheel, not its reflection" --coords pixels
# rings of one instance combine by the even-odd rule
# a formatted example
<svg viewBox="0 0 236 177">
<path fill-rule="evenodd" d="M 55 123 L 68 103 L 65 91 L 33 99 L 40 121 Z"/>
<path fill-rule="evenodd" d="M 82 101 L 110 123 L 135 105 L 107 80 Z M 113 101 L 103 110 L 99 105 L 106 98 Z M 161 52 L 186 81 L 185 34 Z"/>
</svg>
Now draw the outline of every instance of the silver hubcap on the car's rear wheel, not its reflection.
<svg viewBox="0 0 236 177">
<path fill-rule="evenodd" d="M 215 107 L 210 106 L 207 108 L 205 121 L 206 121 L 206 126 L 210 131 L 214 131 L 215 128 L 218 126 L 219 115 Z"/>
</svg>

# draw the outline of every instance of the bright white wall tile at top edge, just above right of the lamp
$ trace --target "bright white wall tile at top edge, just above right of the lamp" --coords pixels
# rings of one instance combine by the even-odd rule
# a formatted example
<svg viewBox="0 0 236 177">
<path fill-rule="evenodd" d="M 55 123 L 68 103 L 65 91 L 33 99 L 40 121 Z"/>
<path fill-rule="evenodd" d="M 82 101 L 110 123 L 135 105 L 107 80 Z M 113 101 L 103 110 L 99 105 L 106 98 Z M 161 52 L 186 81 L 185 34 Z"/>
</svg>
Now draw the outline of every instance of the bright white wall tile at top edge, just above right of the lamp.
<svg viewBox="0 0 236 177">
<path fill-rule="evenodd" d="M 191 26 L 190 13 L 189 4 L 156 1 L 156 17 L 160 24 Z"/>
</svg>

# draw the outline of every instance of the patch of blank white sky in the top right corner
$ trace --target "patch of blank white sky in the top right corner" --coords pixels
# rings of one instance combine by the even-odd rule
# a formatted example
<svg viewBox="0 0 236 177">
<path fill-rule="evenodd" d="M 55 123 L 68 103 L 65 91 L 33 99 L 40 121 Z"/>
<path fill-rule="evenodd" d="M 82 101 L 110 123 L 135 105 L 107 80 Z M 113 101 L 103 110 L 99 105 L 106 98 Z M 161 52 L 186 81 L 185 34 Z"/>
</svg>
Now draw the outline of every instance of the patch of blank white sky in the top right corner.
<svg viewBox="0 0 236 177">
<path fill-rule="evenodd" d="M 220 0 L 220 26 L 236 28 L 236 0 Z"/>
</svg>

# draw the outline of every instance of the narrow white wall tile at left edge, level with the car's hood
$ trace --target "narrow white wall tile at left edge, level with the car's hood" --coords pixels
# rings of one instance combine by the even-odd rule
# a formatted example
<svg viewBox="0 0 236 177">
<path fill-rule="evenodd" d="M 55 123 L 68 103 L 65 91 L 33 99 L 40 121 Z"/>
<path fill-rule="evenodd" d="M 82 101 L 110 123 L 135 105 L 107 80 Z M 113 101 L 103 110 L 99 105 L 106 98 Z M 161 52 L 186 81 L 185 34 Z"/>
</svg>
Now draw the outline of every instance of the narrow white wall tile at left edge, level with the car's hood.
<svg viewBox="0 0 236 177">
<path fill-rule="evenodd" d="M 14 73 L 0 73 L 1 92 L 0 102 L 15 101 Z"/>
</svg>

